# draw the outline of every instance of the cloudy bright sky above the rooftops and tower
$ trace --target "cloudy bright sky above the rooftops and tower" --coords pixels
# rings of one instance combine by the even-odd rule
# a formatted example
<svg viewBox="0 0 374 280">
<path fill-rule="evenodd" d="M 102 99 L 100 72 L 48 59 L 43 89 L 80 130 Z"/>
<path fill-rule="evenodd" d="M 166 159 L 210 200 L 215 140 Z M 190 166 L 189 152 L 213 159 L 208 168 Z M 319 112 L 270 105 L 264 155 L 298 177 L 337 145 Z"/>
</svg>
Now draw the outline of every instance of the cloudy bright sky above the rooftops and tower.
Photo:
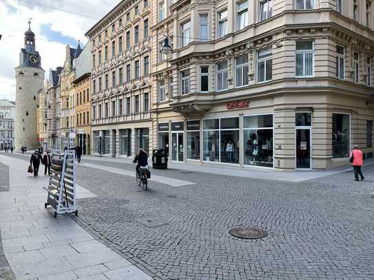
<svg viewBox="0 0 374 280">
<path fill-rule="evenodd" d="M 48 77 L 51 68 L 63 66 L 65 46 L 76 47 L 80 40 L 83 47 L 87 43 L 85 32 L 119 1 L 0 0 L 0 99 L 16 98 L 14 68 L 19 65 L 30 18 L 41 67 Z"/>
</svg>

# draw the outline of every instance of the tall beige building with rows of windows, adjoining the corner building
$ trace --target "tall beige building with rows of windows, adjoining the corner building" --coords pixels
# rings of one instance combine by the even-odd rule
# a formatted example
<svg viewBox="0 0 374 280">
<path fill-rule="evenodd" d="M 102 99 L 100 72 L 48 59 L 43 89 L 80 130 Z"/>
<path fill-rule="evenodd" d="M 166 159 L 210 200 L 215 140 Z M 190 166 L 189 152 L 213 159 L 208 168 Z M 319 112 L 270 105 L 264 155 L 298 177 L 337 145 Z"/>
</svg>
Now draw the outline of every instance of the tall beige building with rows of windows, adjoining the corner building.
<svg viewBox="0 0 374 280">
<path fill-rule="evenodd" d="M 132 156 L 153 146 L 151 1 L 121 1 L 87 33 L 92 43 L 92 153 Z"/>
</svg>

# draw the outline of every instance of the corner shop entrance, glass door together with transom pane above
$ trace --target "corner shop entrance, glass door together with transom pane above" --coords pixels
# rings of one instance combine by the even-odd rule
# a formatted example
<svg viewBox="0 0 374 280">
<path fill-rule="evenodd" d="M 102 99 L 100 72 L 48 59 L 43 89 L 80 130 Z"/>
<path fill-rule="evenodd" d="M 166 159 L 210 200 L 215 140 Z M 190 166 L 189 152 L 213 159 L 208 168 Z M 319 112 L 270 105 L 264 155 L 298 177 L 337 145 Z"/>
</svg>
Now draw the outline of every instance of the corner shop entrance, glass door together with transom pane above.
<svg viewBox="0 0 374 280">
<path fill-rule="evenodd" d="M 311 169 L 311 113 L 296 113 L 296 169 Z"/>
</svg>

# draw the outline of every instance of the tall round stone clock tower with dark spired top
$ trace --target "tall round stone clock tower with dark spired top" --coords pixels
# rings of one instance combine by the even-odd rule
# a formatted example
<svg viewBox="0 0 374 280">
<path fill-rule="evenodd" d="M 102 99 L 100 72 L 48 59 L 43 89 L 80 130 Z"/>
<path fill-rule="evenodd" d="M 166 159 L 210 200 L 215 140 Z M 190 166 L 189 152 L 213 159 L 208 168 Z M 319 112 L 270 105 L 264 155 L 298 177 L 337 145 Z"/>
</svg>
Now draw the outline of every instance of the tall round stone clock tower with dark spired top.
<svg viewBox="0 0 374 280">
<path fill-rule="evenodd" d="M 16 71 L 16 121 L 14 125 L 16 151 L 25 145 L 28 150 L 39 147 L 38 120 L 39 89 L 44 86 L 44 70 L 36 50 L 35 34 L 29 28 L 25 32 L 25 47 L 19 54 Z"/>
</svg>

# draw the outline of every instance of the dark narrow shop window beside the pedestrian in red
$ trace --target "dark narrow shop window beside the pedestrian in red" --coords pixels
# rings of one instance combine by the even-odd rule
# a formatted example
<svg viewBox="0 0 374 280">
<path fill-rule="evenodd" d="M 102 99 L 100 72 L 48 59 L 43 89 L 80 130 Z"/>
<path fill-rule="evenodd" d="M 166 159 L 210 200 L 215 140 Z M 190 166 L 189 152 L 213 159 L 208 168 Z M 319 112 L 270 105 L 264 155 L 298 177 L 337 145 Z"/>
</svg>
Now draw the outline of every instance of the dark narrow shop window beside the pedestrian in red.
<svg viewBox="0 0 374 280">
<path fill-rule="evenodd" d="M 333 113 L 333 158 L 348 158 L 350 144 L 350 120 L 348 114 Z"/>
</svg>

